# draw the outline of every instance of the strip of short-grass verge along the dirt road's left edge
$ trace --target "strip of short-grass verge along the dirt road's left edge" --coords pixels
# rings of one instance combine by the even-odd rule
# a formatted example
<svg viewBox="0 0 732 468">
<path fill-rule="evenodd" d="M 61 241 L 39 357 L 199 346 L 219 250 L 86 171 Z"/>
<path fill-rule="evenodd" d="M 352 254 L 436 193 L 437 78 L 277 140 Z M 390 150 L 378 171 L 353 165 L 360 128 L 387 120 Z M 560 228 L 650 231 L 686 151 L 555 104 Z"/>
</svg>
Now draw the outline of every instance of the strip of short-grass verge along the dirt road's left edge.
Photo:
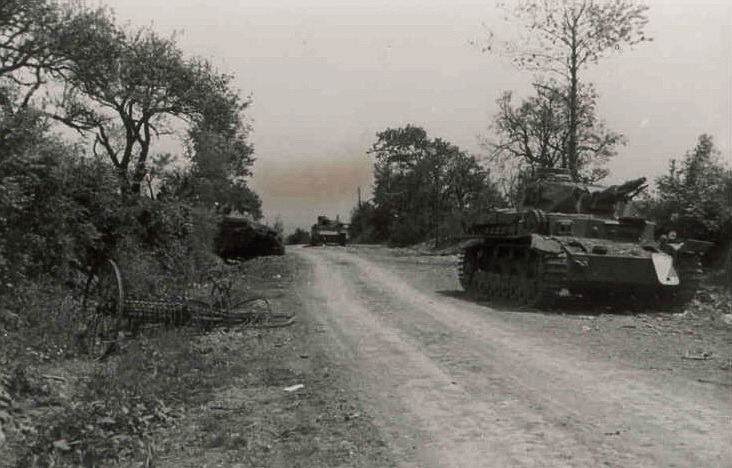
<svg viewBox="0 0 732 468">
<path fill-rule="evenodd" d="M 246 371 L 200 407 L 154 434 L 157 467 L 388 467 L 383 435 L 348 386 L 347 369 L 328 354 L 323 330 L 305 312 L 300 285 L 309 275 L 297 256 L 251 261 L 241 285 L 268 297 L 285 328 L 234 328 L 201 336 L 196 346 Z"/>
</svg>

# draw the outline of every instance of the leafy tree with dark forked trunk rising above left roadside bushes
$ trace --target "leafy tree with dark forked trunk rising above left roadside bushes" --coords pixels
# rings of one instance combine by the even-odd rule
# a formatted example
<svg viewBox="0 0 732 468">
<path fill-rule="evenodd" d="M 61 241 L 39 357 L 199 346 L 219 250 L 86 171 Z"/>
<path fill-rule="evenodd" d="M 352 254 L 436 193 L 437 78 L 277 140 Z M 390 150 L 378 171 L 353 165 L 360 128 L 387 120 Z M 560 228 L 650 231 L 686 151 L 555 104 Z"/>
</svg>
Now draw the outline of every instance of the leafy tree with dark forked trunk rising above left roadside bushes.
<svg viewBox="0 0 732 468">
<path fill-rule="evenodd" d="M 69 8 L 53 48 L 64 58 L 56 76 L 65 89 L 52 115 L 94 135 L 94 151 L 109 158 L 125 192 L 140 193 L 151 145 L 176 121 L 227 138 L 242 126 L 248 102 L 232 77 L 184 58 L 175 37 L 117 27 L 103 9 Z"/>
</svg>

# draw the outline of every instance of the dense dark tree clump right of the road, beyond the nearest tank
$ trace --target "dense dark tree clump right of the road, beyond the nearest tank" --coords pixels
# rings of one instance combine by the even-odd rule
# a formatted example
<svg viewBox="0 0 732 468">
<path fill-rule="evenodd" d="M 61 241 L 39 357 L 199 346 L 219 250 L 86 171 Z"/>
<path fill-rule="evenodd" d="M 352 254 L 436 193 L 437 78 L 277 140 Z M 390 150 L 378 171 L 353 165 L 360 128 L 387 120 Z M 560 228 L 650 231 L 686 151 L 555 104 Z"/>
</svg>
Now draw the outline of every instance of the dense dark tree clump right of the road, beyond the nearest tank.
<svg viewBox="0 0 732 468">
<path fill-rule="evenodd" d="M 404 245 L 454 235 L 476 210 L 500 199 L 473 156 L 440 138 L 428 138 L 421 127 L 377 133 L 370 153 L 376 158 L 373 204 L 354 212 L 354 238 L 386 238 Z"/>
</svg>

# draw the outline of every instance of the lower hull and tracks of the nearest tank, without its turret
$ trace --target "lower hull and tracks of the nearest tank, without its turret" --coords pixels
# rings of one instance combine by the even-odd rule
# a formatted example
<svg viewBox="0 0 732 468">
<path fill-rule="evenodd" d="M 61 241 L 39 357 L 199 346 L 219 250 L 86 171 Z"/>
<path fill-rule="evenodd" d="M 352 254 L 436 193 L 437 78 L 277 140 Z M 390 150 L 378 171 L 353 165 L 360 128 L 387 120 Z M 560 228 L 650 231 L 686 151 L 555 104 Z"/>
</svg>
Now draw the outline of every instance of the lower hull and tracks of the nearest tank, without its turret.
<svg viewBox="0 0 732 468">
<path fill-rule="evenodd" d="M 538 234 L 465 243 L 458 276 L 466 291 L 551 308 L 560 297 L 677 306 L 696 291 L 699 258 L 658 246 Z"/>
</svg>

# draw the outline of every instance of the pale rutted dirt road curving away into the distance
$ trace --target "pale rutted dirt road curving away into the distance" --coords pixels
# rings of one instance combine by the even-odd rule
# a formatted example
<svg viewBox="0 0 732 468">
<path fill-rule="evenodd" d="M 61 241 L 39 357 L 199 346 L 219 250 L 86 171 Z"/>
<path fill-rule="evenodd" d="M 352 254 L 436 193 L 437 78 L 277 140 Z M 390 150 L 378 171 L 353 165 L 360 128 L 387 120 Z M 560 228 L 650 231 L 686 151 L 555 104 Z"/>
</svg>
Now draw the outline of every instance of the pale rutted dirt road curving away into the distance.
<svg viewBox="0 0 732 468">
<path fill-rule="evenodd" d="M 732 466 L 726 381 L 636 365 L 628 340 L 567 334 L 558 314 L 469 300 L 449 261 L 290 252 L 311 268 L 301 297 L 323 346 L 401 466 Z"/>
</svg>

